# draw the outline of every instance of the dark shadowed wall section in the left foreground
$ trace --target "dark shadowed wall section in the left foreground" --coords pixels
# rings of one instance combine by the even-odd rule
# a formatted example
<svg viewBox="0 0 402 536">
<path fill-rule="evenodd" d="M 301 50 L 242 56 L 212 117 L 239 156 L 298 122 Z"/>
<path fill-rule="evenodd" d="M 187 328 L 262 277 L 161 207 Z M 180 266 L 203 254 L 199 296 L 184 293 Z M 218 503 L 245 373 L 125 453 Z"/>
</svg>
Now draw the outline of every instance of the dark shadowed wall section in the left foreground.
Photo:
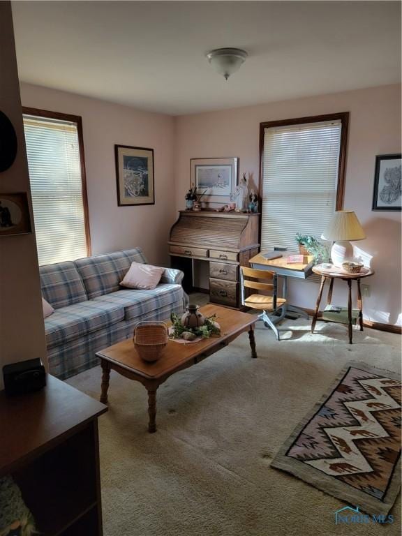
<svg viewBox="0 0 402 536">
<path fill-rule="evenodd" d="M 0 110 L 13 123 L 18 152 L 0 173 L 0 193 L 29 193 L 20 89 L 10 3 L 0 2 Z M 0 237 L 0 368 L 7 363 L 45 359 L 45 329 L 35 234 Z M 0 374 L 0 389 L 3 376 Z"/>
</svg>

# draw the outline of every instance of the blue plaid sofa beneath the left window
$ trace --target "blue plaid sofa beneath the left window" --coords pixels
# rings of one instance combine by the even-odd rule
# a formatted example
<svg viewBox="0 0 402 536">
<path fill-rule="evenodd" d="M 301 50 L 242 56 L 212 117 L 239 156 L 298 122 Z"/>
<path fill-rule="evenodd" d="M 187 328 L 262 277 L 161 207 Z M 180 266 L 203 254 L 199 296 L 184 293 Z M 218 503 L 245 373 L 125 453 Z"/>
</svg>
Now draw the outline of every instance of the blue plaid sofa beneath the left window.
<svg viewBox="0 0 402 536">
<path fill-rule="evenodd" d="M 184 310 L 179 270 L 166 268 L 153 290 L 122 290 L 133 261 L 147 263 L 140 248 L 40 267 L 42 295 L 54 308 L 45 332 L 50 373 L 57 378 L 98 364 L 95 353 L 130 337 L 140 320 L 166 320 Z"/>
</svg>

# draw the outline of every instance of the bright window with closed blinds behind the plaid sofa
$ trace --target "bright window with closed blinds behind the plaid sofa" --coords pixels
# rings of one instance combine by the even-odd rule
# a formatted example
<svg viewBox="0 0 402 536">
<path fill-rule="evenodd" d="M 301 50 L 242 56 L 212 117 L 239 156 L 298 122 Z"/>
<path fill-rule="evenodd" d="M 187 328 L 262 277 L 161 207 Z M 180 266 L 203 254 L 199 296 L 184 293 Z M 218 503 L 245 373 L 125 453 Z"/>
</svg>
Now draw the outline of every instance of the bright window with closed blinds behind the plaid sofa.
<svg viewBox="0 0 402 536">
<path fill-rule="evenodd" d="M 40 265 L 91 254 L 81 117 L 23 108 Z"/>
</svg>

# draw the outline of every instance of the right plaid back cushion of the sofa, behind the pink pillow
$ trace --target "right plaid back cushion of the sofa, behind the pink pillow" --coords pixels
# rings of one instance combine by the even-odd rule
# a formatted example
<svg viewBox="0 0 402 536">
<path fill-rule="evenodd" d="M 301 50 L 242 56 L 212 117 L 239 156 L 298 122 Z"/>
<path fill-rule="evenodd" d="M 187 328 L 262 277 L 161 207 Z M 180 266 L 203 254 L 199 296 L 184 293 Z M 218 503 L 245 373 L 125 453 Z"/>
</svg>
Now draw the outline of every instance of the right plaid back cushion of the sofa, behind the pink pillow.
<svg viewBox="0 0 402 536">
<path fill-rule="evenodd" d="M 75 261 L 89 299 L 116 292 L 131 262 L 145 262 L 140 248 L 96 255 Z"/>
</svg>

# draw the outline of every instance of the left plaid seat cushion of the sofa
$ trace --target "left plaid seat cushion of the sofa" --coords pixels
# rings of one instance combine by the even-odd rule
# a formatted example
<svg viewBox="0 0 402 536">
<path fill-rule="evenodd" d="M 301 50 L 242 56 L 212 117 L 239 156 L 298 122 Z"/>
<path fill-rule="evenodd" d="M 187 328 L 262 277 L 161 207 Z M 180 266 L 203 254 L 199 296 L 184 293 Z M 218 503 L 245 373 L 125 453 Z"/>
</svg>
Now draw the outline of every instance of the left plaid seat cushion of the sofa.
<svg viewBox="0 0 402 536">
<path fill-rule="evenodd" d="M 72 341 L 123 319 L 124 308 L 112 302 L 91 300 L 61 307 L 45 318 L 47 347 Z"/>
</svg>

